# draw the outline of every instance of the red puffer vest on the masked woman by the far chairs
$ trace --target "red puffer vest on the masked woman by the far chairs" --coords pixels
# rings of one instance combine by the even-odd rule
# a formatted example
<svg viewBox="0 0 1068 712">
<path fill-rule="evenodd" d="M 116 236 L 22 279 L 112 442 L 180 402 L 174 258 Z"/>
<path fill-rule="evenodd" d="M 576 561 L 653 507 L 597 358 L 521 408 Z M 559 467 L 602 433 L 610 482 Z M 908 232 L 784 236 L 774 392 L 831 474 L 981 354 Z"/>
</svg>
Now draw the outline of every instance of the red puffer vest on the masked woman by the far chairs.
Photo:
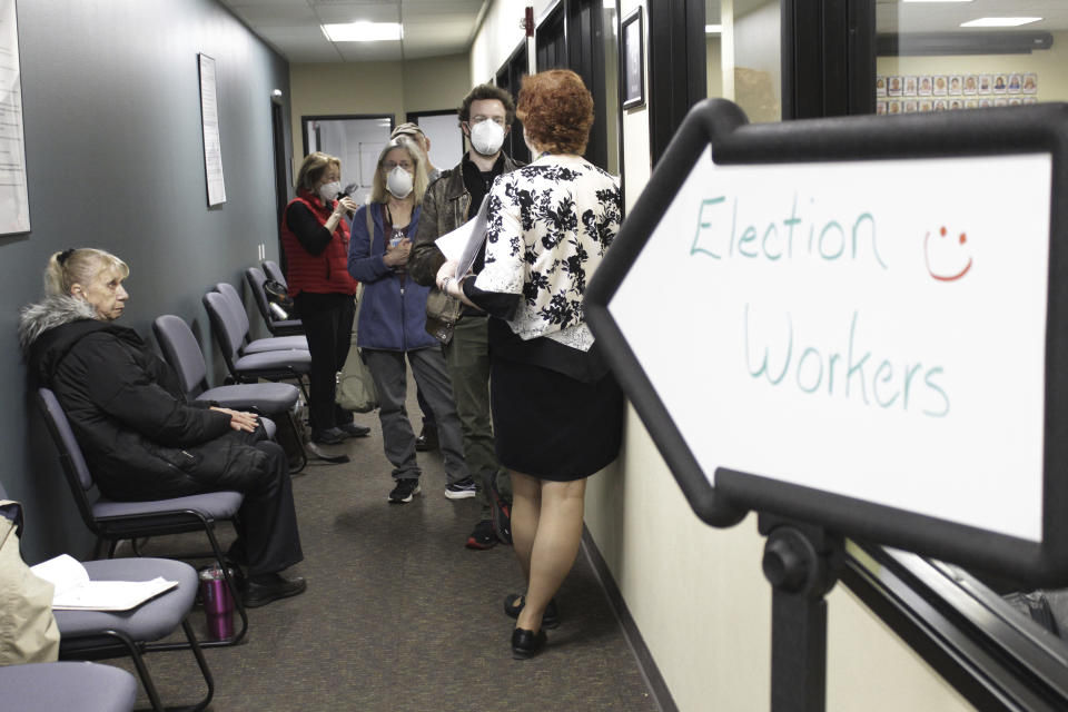
<svg viewBox="0 0 1068 712">
<path fill-rule="evenodd" d="M 301 190 L 293 201 L 286 206 L 286 210 L 294 202 L 301 202 L 319 220 L 319 225 L 326 225 L 334 211 L 334 205 L 324 206 L 318 198 L 314 198 L 310 192 Z M 281 220 L 281 248 L 286 250 L 286 263 L 288 271 L 286 281 L 289 283 L 289 295 L 296 296 L 301 291 L 316 294 L 356 294 L 357 281 L 348 274 L 348 221 L 342 218 L 334 230 L 334 236 L 329 244 L 318 255 L 313 255 L 304 249 L 300 240 L 293 234 L 285 218 Z"/>
</svg>

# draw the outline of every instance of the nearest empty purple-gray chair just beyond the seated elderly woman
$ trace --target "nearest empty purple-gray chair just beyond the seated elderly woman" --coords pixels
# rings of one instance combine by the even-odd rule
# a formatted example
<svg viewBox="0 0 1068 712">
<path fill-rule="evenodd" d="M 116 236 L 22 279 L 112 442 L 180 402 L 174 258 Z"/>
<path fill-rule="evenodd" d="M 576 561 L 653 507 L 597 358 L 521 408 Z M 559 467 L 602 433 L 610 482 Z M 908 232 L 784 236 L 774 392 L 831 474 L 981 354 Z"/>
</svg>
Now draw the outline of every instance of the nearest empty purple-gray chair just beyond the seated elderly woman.
<svg viewBox="0 0 1068 712">
<path fill-rule="evenodd" d="M 294 436 L 299 433 L 294 411 L 300 390 L 288 383 L 239 383 L 227 386 L 208 387 L 208 372 L 204 363 L 204 353 L 197 344 L 192 329 L 185 319 L 172 314 L 156 317 L 152 333 L 159 343 L 164 358 L 178 374 L 186 397 L 190 400 L 210 400 L 222 407 L 236 411 L 256 411 L 275 419 L 285 419 Z M 275 437 L 275 425 L 264 418 L 267 434 Z M 299 443 L 300 438 L 296 437 Z M 304 469 L 307 454 L 300 448 L 300 463 L 291 473 Z"/>
</svg>

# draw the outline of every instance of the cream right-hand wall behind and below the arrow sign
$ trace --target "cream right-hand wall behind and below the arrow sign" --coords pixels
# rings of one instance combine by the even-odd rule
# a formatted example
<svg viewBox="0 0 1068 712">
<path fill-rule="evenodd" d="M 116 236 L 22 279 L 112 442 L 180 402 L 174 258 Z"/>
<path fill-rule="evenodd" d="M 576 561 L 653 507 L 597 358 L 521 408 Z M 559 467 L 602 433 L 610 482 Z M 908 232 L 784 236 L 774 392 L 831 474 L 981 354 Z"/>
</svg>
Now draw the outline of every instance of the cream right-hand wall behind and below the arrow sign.
<svg viewBox="0 0 1068 712">
<path fill-rule="evenodd" d="M 472 49 L 473 79 L 492 77 L 521 41 L 522 4 L 490 8 Z M 547 4 L 535 3 L 535 17 Z M 620 6 L 625 18 L 645 3 Z M 623 146 L 630 208 L 651 172 L 645 108 L 624 112 Z M 651 295 L 650 308 L 665 307 Z M 633 409 L 620 459 L 590 479 L 586 526 L 679 709 L 768 710 L 771 590 L 755 518 L 730 530 L 701 523 Z M 828 710 L 971 709 L 841 586 L 829 606 Z"/>
</svg>

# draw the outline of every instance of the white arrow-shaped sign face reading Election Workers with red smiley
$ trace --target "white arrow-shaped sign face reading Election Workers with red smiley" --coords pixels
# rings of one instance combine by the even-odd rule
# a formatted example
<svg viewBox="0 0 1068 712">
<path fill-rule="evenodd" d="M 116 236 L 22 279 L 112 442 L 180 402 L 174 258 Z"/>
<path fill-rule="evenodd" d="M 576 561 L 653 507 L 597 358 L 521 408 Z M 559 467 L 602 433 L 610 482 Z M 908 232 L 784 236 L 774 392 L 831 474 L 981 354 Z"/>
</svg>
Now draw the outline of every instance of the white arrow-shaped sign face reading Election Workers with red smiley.
<svg viewBox="0 0 1068 712">
<path fill-rule="evenodd" d="M 609 309 L 713 485 L 725 467 L 1039 542 L 1051 171 L 706 148 Z"/>
</svg>

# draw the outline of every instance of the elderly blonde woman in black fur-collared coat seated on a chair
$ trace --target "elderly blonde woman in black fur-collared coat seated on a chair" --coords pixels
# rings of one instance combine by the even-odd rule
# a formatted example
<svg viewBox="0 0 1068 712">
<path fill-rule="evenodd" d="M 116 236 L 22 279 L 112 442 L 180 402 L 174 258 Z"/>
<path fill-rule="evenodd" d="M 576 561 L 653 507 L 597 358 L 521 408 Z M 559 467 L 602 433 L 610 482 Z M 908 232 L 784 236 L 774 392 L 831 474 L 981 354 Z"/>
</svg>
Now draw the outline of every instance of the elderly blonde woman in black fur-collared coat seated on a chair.
<svg viewBox="0 0 1068 712">
<path fill-rule="evenodd" d="M 255 414 L 187 403 L 178 376 L 138 334 L 118 326 L 126 263 L 99 249 L 56 253 L 46 298 L 21 313 L 31 378 L 56 393 L 101 493 L 149 501 L 233 490 L 245 495 L 230 554 L 248 568 L 248 607 L 301 593 L 280 571 L 300 537 L 285 452 Z"/>
</svg>

